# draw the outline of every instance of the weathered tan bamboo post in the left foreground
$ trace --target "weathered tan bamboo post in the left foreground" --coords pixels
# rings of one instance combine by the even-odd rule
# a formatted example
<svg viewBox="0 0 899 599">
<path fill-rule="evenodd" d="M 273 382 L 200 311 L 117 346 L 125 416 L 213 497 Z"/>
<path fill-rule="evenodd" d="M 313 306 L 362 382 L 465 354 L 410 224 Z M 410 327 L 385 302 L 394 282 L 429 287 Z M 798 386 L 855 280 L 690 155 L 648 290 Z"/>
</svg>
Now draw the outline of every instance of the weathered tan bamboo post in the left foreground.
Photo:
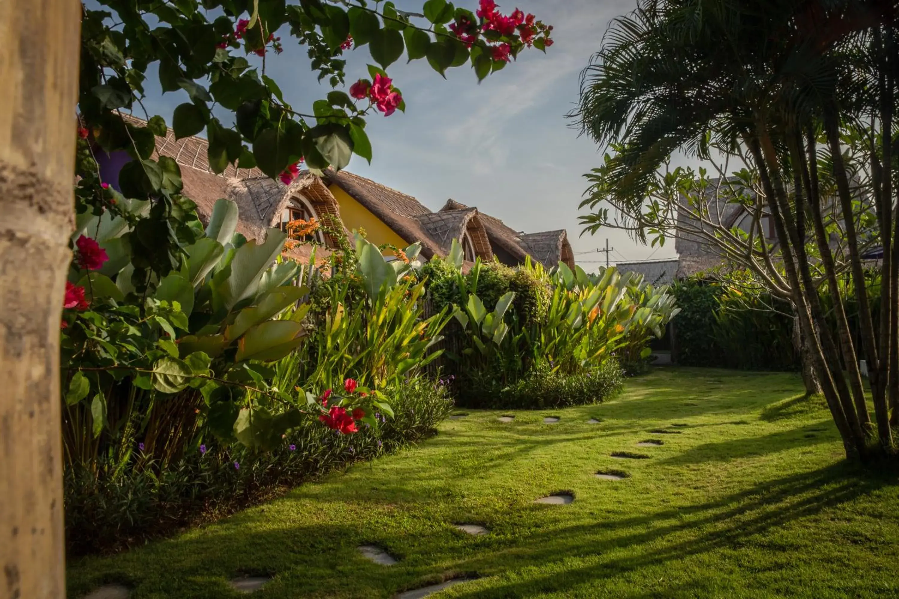
<svg viewBox="0 0 899 599">
<path fill-rule="evenodd" d="M 74 224 L 78 0 L 0 0 L 0 597 L 66 596 L 59 322 Z"/>
</svg>

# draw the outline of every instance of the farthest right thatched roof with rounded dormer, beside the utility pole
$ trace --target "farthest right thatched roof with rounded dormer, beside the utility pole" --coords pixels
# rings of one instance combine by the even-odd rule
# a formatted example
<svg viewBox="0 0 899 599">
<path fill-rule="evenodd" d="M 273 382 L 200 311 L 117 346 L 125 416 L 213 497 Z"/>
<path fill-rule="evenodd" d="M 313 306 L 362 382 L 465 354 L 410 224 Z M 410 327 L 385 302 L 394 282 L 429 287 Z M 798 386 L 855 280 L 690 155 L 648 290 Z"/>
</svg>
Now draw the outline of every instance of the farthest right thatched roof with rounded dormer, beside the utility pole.
<svg viewBox="0 0 899 599">
<path fill-rule="evenodd" d="M 459 204 L 454 199 L 448 199 L 446 205 L 441 208 L 441 212 L 466 208 L 468 207 L 464 204 Z M 490 242 L 507 251 L 514 260 L 523 262 L 525 257 L 530 255 L 533 260 L 539 261 L 547 268 L 553 268 L 559 261 L 574 268 L 574 252 L 568 242 L 568 233 L 565 232 L 565 229 L 542 233 L 518 233 L 499 218 L 485 215 L 483 212 L 478 212 L 478 217 L 484 224 Z"/>
</svg>

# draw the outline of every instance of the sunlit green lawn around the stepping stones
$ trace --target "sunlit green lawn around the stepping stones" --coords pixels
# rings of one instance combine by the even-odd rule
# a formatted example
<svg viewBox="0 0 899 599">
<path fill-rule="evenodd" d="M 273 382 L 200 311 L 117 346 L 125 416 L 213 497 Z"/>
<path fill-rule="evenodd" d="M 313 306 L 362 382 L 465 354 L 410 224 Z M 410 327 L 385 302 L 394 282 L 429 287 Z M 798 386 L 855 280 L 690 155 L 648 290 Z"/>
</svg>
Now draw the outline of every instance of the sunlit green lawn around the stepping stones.
<svg viewBox="0 0 899 599">
<path fill-rule="evenodd" d="M 823 401 L 801 389 L 793 374 L 665 369 L 601 406 L 510 424 L 469 411 L 402 454 L 71 563 L 69 596 L 120 582 L 136 599 L 220 599 L 245 596 L 228 579 L 264 574 L 259 599 L 391 597 L 463 575 L 479 578 L 434 596 L 897 597 L 899 477 L 842 462 Z M 636 447 L 646 439 L 664 445 Z M 574 503 L 533 503 L 556 491 Z M 371 563 L 361 544 L 400 561 Z"/>
</svg>

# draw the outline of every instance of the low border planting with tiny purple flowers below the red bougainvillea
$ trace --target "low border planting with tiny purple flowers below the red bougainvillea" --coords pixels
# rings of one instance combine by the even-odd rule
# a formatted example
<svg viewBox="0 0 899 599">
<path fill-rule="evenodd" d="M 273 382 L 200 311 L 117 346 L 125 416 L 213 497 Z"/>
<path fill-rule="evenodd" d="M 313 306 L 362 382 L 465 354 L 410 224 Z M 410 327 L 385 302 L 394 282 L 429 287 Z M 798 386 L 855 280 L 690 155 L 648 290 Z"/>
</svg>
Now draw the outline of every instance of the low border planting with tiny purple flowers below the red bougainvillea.
<svg viewBox="0 0 899 599">
<path fill-rule="evenodd" d="M 93 469 L 66 472 L 67 548 L 79 555 L 117 551 L 159 534 L 227 515 L 353 462 L 371 459 L 432 434 L 452 406 L 441 384 L 416 377 L 385 393 L 395 416 L 380 427 L 340 435 L 303 418 L 264 453 L 241 445 L 199 445 L 165 468 L 144 468 L 103 455 Z M 133 448 L 133 454 L 141 454 Z"/>
</svg>

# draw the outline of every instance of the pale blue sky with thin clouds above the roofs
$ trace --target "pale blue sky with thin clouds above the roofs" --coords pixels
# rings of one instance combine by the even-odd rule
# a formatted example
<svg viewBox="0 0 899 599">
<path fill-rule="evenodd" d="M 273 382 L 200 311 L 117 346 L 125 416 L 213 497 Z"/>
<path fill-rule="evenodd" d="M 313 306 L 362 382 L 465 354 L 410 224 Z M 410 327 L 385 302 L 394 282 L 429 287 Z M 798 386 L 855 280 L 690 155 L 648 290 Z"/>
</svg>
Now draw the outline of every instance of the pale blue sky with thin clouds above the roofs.
<svg viewBox="0 0 899 599">
<path fill-rule="evenodd" d="M 423 0 L 396 4 L 415 11 Z M 475 10 L 477 2 L 457 4 Z M 405 114 L 373 114 L 366 128 L 372 162 L 354 155 L 348 170 L 414 196 L 432 210 L 453 198 L 517 231 L 566 229 L 575 261 L 587 271 L 605 264 L 605 253 L 596 250 L 605 248 L 607 238 L 614 248 L 611 263 L 673 257 L 673 243 L 650 248 L 615 229 L 582 236 L 577 218 L 587 188 L 583 173 L 601 163 L 604 148 L 579 137 L 565 114 L 574 108 L 581 71 L 600 49 L 610 20 L 632 11 L 636 0 L 519 0 L 501 2 L 500 10 L 511 13 L 516 6 L 554 26 L 555 43 L 547 54 L 526 50 L 481 84 L 469 66 L 448 69 L 444 80 L 425 60 L 405 64 L 401 58 L 387 72 L 403 91 Z M 295 110 L 310 111 L 312 101 L 330 87 L 316 83 L 305 48 L 287 31 L 279 34 L 284 52 L 267 57 L 266 73 Z M 347 84 L 369 76 L 366 65 L 373 61 L 367 47 L 345 57 Z M 188 101 L 186 92 L 159 94 L 156 81 L 151 67 L 144 103 L 151 116 L 161 114 L 171 123 L 174 107 Z"/>
</svg>

